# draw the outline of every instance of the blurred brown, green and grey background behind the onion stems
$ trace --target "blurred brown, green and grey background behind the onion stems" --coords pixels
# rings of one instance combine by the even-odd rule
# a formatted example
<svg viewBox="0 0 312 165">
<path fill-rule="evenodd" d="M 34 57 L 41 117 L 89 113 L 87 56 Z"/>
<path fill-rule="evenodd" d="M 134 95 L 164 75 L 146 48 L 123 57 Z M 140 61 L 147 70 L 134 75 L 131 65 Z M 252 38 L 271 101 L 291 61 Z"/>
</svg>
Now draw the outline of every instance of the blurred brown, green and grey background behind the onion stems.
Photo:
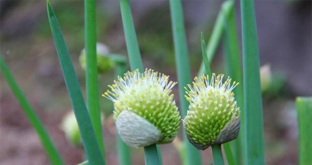
<svg viewBox="0 0 312 165">
<path fill-rule="evenodd" d="M 200 31 L 211 34 L 222 2 L 184 1 L 184 17 L 192 77 L 201 62 Z M 84 48 L 83 1 L 52 1 L 71 54 L 82 91 L 85 71 L 79 56 Z M 59 67 L 46 16 L 45 2 L 1 1 L 0 50 L 19 85 L 48 129 L 64 161 L 75 164 L 84 159 L 82 148 L 66 140 L 59 123 L 70 109 L 70 102 Z M 136 33 L 144 66 L 171 75 L 176 80 L 168 1 L 131 1 Z M 296 164 L 297 121 L 294 98 L 312 95 L 311 2 L 256 1 L 259 35 L 265 144 L 267 164 Z M 239 5 L 235 10 L 240 24 Z M 126 55 L 118 1 L 97 2 L 97 41 L 111 52 Z M 237 28 L 238 30 L 241 28 Z M 239 34 L 240 34 L 239 30 Z M 239 35 L 241 36 L 241 35 Z M 211 61 L 212 69 L 224 72 L 222 44 Z M 99 75 L 100 94 L 107 90 L 114 71 Z M 40 141 L 22 113 L 15 97 L 1 76 L 0 151 L 1 164 L 44 164 L 49 160 Z M 178 89 L 173 92 L 178 100 Z M 101 99 L 101 110 L 110 118 L 112 103 Z M 105 120 L 104 144 L 107 164 L 117 164 L 114 124 Z M 181 133 L 182 131 L 180 131 Z M 27 140 L 20 140 L 21 137 Z M 180 134 L 179 137 L 182 137 Z M 179 145 L 177 145 L 179 146 Z M 164 164 L 181 164 L 172 144 L 162 146 Z M 293 148 L 293 149 L 287 149 Z M 133 164 L 143 164 L 141 149 L 131 149 Z M 181 151 L 180 151 L 181 152 Z M 203 163 L 212 163 L 205 150 Z M 168 156 L 170 155 L 170 156 Z"/>
</svg>

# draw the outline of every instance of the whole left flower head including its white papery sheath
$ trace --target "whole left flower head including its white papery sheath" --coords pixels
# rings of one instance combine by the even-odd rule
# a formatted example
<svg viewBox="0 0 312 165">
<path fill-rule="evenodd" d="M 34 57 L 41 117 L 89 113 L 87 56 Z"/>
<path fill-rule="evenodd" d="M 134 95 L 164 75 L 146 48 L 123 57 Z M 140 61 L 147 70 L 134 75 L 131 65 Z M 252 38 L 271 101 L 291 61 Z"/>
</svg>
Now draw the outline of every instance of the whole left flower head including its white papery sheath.
<svg viewBox="0 0 312 165">
<path fill-rule="evenodd" d="M 177 82 L 152 69 L 128 71 L 114 82 L 102 96 L 114 102 L 121 139 L 132 147 L 173 141 L 181 119 L 171 94 Z"/>
</svg>

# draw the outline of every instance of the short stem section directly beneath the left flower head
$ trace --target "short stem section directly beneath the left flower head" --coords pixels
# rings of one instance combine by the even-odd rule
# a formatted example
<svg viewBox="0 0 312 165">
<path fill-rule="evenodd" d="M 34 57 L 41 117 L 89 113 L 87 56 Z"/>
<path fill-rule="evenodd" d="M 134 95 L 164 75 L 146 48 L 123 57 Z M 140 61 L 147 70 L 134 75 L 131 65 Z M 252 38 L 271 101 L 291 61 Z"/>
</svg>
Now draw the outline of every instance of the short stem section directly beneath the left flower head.
<svg viewBox="0 0 312 165">
<path fill-rule="evenodd" d="M 146 165 L 160 165 L 160 158 L 157 152 L 156 144 L 151 144 L 144 147 L 145 164 Z"/>
</svg>

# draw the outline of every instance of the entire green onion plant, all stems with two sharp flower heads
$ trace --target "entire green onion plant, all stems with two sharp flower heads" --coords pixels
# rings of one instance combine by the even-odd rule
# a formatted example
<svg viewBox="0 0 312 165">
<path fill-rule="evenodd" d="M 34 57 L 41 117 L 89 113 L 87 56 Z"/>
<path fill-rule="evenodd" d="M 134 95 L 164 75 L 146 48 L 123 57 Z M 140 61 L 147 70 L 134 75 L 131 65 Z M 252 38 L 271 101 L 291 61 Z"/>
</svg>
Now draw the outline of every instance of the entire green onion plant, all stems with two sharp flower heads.
<svg viewBox="0 0 312 165">
<path fill-rule="evenodd" d="M 207 45 L 201 33 L 203 62 L 198 77 L 194 78 L 192 84 L 182 2 L 169 2 L 181 116 L 185 129 L 183 146 L 177 144 L 182 163 L 201 164 L 200 150 L 211 146 L 213 163 L 223 165 L 226 163 L 221 150 L 223 146 L 229 165 L 265 164 L 254 1 L 241 1 L 243 69 L 236 29 L 235 2 L 227 0 L 222 4 Z M 120 0 L 120 9 L 131 71 L 127 71 L 126 59 L 122 56 L 110 54 L 99 59 L 96 42 L 96 1 L 85 0 L 85 50 L 80 60 L 86 71 L 87 107 L 55 13 L 47 1 L 50 29 L 86 152 L 87 160 L 80 164 L 106 164 L 98 74 L 116 67 L 117 80 L 114 81 L 114 85 L 109 86 L 111 90 L 103 96 L 114 102 L 113 116 L 118 132 L 116 146 L 119 164 L 131 164 L 130 148 L 127 146 L 129 145 L 144 147 L 145 164 L 159 165 L 162 164 L 162 157 L 157 144 L 172 142 L 180 125 L 181 117 L 172 94 L 172 88 L 177 82 L 169 81 L 169 76 L 152 69 L 143 70 L 129 0 Z M 212 73 L 209 66 L 221 37 L 226 71 L 232 77 L 228 77 L 224 82 L 224 75 Z M 99 72 L 101 64 L 105 66 L 101 67 L 102 71 Z M 42 122 L 1 56 L 0 68 L 36 130 L 51 163 L 64 164 Z M 238 82 L 243 84 L 237 86 Z M 298 97 L 296 104 L 299 164 L 312 164 L 312 98 Z"/>
</svg>

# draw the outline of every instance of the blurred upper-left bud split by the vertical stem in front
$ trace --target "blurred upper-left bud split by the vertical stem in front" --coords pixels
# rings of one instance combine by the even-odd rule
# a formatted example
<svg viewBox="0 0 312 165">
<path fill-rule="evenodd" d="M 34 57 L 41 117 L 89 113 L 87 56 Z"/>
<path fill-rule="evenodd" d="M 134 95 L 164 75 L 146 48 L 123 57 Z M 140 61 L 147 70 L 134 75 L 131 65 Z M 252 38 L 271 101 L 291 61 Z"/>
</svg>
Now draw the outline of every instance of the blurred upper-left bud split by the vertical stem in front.
<svg viewBox="0 0 312 165">
<path fill-rule="evenodd" d="M 86 69 L 86 51 L 82 50 L 81 55 L 79 57 L 81 67 Z M 114 68 L 115 63 L 109 57 L 109 49 L 106 45 L 97 43 L 97 65 L 98 65 L 98 73 L 106 73 Z"/>
</svg>

